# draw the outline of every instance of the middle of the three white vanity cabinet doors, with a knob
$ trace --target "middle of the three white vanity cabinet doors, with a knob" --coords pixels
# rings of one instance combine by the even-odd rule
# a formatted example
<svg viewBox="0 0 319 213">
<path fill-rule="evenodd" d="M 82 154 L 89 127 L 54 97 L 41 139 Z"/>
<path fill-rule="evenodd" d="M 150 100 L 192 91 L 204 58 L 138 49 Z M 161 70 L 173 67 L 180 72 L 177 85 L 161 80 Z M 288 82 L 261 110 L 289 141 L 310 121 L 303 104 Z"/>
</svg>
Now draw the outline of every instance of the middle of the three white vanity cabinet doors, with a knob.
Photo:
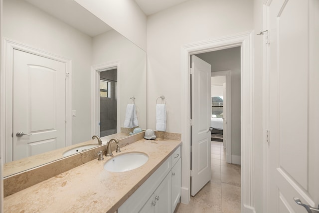
<svg viewBox="0 0 319 213">
<path fill-rule="evenodd" d="M 171 213 L 171 176 L 168 174 L 154 193 L 155 213 Z"/>
</svg>

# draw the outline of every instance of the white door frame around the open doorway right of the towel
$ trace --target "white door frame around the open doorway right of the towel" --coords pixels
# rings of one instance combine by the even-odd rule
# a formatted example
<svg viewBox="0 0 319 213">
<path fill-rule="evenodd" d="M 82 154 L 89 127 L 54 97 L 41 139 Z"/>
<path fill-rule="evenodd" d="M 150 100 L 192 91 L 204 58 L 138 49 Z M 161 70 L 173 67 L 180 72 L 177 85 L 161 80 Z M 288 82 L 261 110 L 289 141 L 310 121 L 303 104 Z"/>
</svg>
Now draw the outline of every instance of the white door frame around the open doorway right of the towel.
<svg viewBox="0 0 319 213">
<path fill-rule="evenodd" d="M 181 48 L 182 78 L 182 180 L 181 202 L 190 200 L 190 70 L 189 56 L 241 46 L 241 212 L 255 212 L 253 195 L 253 31 L 184 45 Z"/>
</svg>

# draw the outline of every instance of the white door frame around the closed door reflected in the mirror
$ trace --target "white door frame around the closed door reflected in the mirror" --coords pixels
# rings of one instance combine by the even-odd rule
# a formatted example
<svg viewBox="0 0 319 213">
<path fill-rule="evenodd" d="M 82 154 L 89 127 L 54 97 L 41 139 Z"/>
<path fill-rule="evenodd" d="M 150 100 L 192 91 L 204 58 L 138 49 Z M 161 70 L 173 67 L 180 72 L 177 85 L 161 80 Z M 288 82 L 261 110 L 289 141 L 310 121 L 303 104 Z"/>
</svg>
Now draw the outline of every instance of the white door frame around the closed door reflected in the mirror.
<svg viewBox="0 0 319 213">
<path fill-rule="evenodd" d="M 28 52 L 31 54 L 35 54 L 38 56 L 46 57 L 52 60 L 60 61 L 65 63 L 65 70 L 68 75 L 66 76 L 66 87 L 65 87 L 65 116 L 66 116 L 66 126 L 65 126 L 65 145 L 72 145 L 72 60 L 62 58 L 56 56 L 51 53 L 47 53 L 43 50 L 31 47 L 27 44 L 23 44 L 17 41 L 13 41 L 7 38 L 3 39 L 3 64 L 2 64 L 2 72 L 1 72 L 1 105 L 0 105 L 0 113 L 1 113 L 1 123 L 0 123 L 0 131 L 1 133 L 1 144 L 4 144 L 4 149 L 2 150 L 1 155 L 4 156 L 4 162 L 12 161 L 12 83 L 13 83 L 13 72 L 12 72 L 12 64 L 13 64 L 13 49 L 21 50 L 24 52 Z"/>
</svg>

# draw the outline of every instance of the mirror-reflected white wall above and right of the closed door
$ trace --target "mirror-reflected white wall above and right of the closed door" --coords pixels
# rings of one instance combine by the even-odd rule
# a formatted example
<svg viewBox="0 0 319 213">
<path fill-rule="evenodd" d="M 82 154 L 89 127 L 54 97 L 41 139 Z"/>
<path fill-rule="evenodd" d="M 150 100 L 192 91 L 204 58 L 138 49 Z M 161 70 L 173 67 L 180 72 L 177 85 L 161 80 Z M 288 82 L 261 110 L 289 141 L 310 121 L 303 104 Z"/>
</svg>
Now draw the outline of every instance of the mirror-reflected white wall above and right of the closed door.
<svg viewBox="0 0 319 213">
<path fill-rule="evenodd" d="M 91 37 L 23 0 L 3 1 L 2 23 L 2 36 L 72 60 L 73 143 L 89 140 Z"/>
</svg>

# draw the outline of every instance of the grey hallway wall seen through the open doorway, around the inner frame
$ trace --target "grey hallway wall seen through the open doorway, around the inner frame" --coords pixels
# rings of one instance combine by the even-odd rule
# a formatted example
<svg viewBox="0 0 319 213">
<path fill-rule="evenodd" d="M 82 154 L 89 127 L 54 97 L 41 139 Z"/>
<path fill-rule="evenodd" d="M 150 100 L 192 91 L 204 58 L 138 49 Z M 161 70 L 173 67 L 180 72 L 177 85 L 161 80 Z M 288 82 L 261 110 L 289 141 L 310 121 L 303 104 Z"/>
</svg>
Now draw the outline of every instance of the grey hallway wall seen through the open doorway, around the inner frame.
<svg viewBox="0 0 319 213">
<path fill-rule="evenodd" d="M 240 156 L 240 47 L 197 54 L 211 71 L 231 70 L 231 154 Z"/>
</svg>

